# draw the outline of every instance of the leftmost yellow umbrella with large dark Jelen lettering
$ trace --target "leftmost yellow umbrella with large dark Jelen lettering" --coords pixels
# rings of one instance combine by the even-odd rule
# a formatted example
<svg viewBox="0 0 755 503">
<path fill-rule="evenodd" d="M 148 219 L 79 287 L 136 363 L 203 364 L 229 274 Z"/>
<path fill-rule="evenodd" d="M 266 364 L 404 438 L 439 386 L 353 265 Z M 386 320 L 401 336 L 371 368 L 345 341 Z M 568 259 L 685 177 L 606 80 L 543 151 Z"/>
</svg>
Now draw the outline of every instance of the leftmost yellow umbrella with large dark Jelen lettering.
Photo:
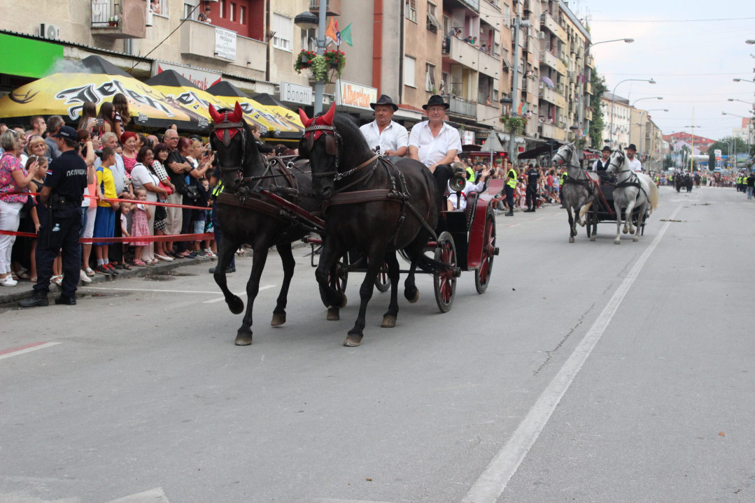
<svg viewBox="0 0 755 503">
<path fill-rule="evenodd" d="M 90 58 L 96 57 L 86 60 Z M 81 117 L 85 101 L 91 101 L 99 109 L 100 103 L 112 101 L 113 96 L 122 93 L 128 98 L 134 124 L 146 127 L 176 124 L 189 130 L 207 127 L 206 118 L 166 99 L 116 66 L 112 69 L 112 73 L 56 73 L 23 85 L 0 99 L 0 118 L 7 123 L 26 123 L 34 115 L 60 115 L 66 122 L 75 123 Z"/>
</svg>

